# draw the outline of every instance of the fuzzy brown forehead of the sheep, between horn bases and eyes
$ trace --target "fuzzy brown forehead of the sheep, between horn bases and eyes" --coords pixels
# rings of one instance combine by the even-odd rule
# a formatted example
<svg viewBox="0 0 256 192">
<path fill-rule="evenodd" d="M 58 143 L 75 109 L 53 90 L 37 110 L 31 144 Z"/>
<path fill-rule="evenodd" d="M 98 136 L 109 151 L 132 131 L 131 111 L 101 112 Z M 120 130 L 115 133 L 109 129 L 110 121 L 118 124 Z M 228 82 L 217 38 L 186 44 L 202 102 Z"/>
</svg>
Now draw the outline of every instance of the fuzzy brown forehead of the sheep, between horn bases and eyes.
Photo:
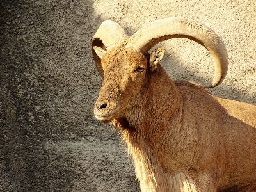
<svg viewBox="0 0 256 192">
<path fill-rule="evenodd" d="M 114 47 L 102 57 L 102 67 L 114 67 L 115 65 L 122 66 L 138 66 L 147 65 L 145 56 L 132 48 L 125 49 L 125 47 Z"/>
</svg>

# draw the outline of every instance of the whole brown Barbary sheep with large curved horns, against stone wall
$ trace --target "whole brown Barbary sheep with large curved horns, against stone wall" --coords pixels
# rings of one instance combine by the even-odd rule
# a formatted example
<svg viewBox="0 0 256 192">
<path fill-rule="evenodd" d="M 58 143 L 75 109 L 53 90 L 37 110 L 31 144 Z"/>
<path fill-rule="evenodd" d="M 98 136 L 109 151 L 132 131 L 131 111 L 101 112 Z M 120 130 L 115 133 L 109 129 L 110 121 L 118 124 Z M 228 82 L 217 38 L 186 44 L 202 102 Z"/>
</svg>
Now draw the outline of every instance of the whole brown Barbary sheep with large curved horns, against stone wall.
<svg viewBox="0 0 256 192">
<path fill-rule="evenodd" d="M 188 81 L 173 82 L 159 65 L 170 38 L 203 45 L 220 84 L 228 70 L 225 45 L 198 22 L 156 20 L 132 36 L 113 21 L 92 39 L 104 78 L 95 117 L 120 131 L 141 191 L 256 191 L 256 106 L 211 95 Z"/>
</svg>

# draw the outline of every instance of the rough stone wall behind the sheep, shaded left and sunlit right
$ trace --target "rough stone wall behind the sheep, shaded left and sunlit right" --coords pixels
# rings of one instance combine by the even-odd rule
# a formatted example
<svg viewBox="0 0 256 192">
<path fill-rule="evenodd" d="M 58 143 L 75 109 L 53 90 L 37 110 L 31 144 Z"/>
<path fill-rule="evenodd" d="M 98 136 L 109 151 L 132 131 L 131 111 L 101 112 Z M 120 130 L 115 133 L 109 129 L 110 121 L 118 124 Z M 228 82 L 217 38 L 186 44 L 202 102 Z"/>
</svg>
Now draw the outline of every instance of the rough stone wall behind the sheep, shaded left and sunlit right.
<svg viewBox="0 0 256 192">
<path fill-rule="evenodd" d="M 103 20 L 132 35 L 163 17 L 203 22 L 227 45 L 230 68 L 213 95 L 256 104 L 256 4 L 244 1 L 0 1 L 0 191 L 140 191 L 125 147 L 93 116 L 100 79 L 90 50 Z M 213 61 L 168 40 L 172 79 L 207 84 Z"/>
</svg>

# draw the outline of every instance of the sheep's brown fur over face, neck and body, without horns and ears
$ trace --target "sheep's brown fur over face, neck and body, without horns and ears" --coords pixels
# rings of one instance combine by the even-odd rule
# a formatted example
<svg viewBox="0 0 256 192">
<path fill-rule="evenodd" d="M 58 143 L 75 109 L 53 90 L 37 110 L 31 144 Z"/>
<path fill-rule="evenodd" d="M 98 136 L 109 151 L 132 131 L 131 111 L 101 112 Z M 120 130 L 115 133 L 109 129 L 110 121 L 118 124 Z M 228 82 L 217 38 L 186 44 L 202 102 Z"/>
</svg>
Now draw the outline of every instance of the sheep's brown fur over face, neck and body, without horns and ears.
<svg viewBox="0 0 256 192">
<path fill-rule="evenodd" d="M 96 105 L 108 106 L 95 115 L 121 132 L 141 191 L 256 191 L 256 106 L 173 83 L 124 46 L 108 51 L 102 68 Z"/>
</svg>

